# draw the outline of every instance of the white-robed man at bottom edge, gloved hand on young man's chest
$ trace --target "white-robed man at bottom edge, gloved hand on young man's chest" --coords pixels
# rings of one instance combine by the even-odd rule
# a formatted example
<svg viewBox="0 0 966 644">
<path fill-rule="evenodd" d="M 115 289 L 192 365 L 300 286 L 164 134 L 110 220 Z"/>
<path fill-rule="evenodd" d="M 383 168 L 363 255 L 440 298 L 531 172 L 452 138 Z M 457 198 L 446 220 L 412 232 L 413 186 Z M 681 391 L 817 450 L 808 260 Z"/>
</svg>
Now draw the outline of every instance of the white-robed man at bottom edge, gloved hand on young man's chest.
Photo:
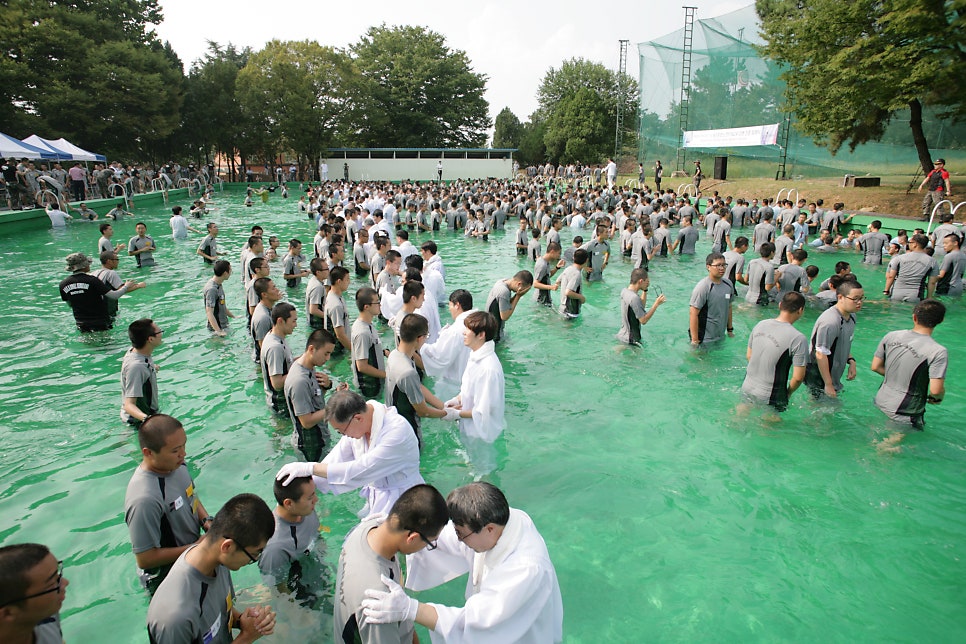
<svg viewBox="0 0 966 644">
<path fill-rule="evenodd" d="M 522 510 L 478 481 L 450 492 L 450 522 L 436 548 L 406 559 L 406 587 L 433 588 L 467 574 L 462 607 L 422 604 L 386 576 L 369 589 L 370 623 L 415 621 L 436 644 L 547 644 L 563 641 L 563 601 L 547 545 Z"/>
</svg>

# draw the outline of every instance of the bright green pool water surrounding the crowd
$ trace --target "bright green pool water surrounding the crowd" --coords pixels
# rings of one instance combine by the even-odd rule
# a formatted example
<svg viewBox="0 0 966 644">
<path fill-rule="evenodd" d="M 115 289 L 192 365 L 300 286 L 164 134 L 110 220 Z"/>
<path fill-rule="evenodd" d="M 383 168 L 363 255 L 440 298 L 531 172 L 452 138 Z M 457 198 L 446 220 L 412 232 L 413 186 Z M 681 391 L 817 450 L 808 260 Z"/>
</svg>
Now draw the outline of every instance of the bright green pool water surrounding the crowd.
<svg viewBox="0 0 966 644">
<path fill-rule="evenodd" d="M 244 208 L 242 195 L 217 196 L 210 218 L 233 263 L 254 223 L 266 236 L 312 238 L 292 199 L 273 195 L 267 206 Z M 270 500 L 275 471 L 296 457 L 290 425 L 265 406 L 241 320 L 226 339 L 205 331 L 201 289 L 210 271 L 195 256 L 200 235 L 171 240 L 168 216 L 166 207 L 143 208 L 115 225 L 116 239 L 127 240 L 134 222 L 146 221 L 158 266 L 139 272 L 122 258 L 122 277 L 138 275 L 149 287 L 125 296 L 117 328 L 96 336 L 76 331 L 57 293 L 63 258 L 93 253 L 96 226 L 5 231 L 2 242 L 0 544 L 39 541 L 66 560 L 68 642 L 146 641 L 147 598 L 123 518 L 139 460 L 136 437 L 118 419 L 129 322 L 150 316 L 165 330 L 155 354 L 161 407 L 188 430 L 189 468 L 209 510 L 243 491 Z M 429 235 L 414 237 L 418 244 Z M 446 232 L 435 239 L 447 287 L 469 289 L 478 305 L 497 278 L 530 268 L 516 257 L 512 233 L 488 243 Z M 699 258 L 652 262 L 652 284 L 668 303 L 644 327 L 643 349 L 614 340 L 630 273 L 617 257 L 605 282 L 585 289 L 580 319 L 565 321 L 528 296 L 498 348 L 508 428 L 488 479 L 530 513 L 547 541 L 565 641 L 962 641 L 962 303 L 949 303 L 935 334 L 949 349 L 944 403 L 930 406 L 927 431 L 907 439 L 902 453 L 880 455 L 873 442 L 887 428 L 871 402 L 880 377 L 868 365 L 882 335 L 910 324 L 911 307 L 867 302 L 853 349 L 859 376 L 839 404 L 816 405 L 799 392 L 779 423 L 738 418 L 748 333 L 775 310 L 739 306 L 734 339 L 692 351 L 688 296 L 706 274 L 707 250 L 702 240 Z M 884 267 L 849 257 L 877 297 Z M 842 258 L 813 255 L 809 263 L 828 275 Z M 273 265 L 273 275 L 279 269 Z M 243 315 L 240 280 L 226 291 Z M 304 285 L 289 294 L 302 311 Z M 806 335 L 818 313 L 809 310 L 799 323 Z M 296 354 L 306 335 L 301 314 L 300 325 L 290 338 Z M 347 379 L 348 363 L 330 371 Z M 428 482 L 445 494 L 472 480 L 455 425 L 429 420 L 423 435 Z M 361 504 L 352 494 L 320 501 L 330 561 Z M 258 584 L 254 567 L 235 575 L 242 594 L 260 594 Z M 463 584 L 420 597 L 458 604 Z M 293 633 L 299 641 L 331 639 L 324 616 L 298 618 L 287 635 L 263 641 L 293 641 Z"/>
</svg>

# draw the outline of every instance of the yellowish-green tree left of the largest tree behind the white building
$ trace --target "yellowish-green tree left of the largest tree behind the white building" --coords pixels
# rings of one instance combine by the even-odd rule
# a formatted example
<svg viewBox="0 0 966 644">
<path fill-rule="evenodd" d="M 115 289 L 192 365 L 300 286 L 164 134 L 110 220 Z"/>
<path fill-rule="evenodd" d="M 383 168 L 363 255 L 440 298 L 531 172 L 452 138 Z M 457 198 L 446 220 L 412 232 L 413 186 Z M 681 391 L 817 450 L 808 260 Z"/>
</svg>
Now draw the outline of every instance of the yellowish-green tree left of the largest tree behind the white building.
<svg viewBox="0 0 966 644">
<path fill-rule="evenodd" d="M 352 109 L 349 58 L 318 42 L 272 40 L 238 74 L 239 100 L 266 134 L 263 152 L 291 150 L 318 167 Z"/>
</svg>

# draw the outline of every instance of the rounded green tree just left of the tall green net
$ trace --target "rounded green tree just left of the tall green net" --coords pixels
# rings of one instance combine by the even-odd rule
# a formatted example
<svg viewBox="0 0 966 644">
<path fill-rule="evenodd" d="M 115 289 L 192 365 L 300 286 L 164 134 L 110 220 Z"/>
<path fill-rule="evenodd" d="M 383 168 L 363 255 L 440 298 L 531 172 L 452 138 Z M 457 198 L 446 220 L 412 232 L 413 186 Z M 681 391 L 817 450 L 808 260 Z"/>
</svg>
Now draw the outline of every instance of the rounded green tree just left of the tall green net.
<svg viewBox="0 0 966 644">
<path fill-rule="evenodd" d="M 596 163 L 611 154 L 618 101 L 624 108 L 624 141 L 634 141 L 637 96 L 637 81 L 626 74 L 621 78 L 600 63 L 571 58 L 560 69 L 551 68 L 537 90 L 539 107 L 531 116 L 546 122 L 550 161 Z M 571 129 L 564 129 L 561 120 Z"/>
</svg>

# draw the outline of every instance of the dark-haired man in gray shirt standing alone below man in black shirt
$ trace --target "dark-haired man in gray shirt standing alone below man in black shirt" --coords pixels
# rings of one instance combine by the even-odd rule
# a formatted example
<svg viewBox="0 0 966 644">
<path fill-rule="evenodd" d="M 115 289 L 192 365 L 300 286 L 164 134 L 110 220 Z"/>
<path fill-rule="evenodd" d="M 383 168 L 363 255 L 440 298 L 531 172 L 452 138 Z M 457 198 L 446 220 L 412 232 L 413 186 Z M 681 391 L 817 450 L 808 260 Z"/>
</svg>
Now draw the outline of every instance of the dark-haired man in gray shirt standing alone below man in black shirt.
<svg viewBox="0 0 966 644">
<path fill-rule="evenodd" d="M 137 427 L 158 413 L 158 368 L 151 354 L 161 346 L 164 331 L 150 318 L 131 322 L 131 348 L 121 362 L 121 420 Z"/>
</svg>

